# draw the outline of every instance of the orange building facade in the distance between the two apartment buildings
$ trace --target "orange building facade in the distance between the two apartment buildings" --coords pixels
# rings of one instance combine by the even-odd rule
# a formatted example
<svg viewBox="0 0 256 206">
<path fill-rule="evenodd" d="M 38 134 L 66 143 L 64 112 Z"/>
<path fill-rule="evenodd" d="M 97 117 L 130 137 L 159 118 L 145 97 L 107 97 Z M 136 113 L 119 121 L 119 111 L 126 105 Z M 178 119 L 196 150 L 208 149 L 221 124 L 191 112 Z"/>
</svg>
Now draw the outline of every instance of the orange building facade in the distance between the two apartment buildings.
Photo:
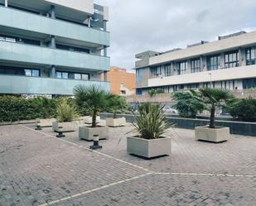
<svg viewBox="0 0 256 206">
<path fill-rule="evenodd" d="M 104 79 L 103 74 L 102 79 Z M 135 94 L 135 74 L 127 72 L 126 69 L 111 66 L 110 71 L 107 74 L 107 79 L 110 83 L 111 93 L 120 96 Z"/>
</svg>

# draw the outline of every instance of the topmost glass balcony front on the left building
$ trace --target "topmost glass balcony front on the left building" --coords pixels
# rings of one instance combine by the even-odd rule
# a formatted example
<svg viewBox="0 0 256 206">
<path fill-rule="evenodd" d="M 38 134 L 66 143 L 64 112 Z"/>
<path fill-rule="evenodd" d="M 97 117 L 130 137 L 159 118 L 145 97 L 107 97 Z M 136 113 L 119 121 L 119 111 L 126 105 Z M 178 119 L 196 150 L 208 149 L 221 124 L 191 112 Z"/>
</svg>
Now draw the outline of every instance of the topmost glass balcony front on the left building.
<svg viewBox="0 0 256 206">
<path fill-rule="evenodd" d="M 9 7 L 0 6 L 0 26 L 6 26 L 6 31 L 7 27 L 12 27 L 12 29 L 19 30 L 20 34 L 24 33 L 24 35 L 27 35 L 27 31 L 31 31 L 34 32 L 34 37 L 44 34 L 78 41 L 78 43 L 85 46 L 109 46 L 109 32 Z"/>
</svg>

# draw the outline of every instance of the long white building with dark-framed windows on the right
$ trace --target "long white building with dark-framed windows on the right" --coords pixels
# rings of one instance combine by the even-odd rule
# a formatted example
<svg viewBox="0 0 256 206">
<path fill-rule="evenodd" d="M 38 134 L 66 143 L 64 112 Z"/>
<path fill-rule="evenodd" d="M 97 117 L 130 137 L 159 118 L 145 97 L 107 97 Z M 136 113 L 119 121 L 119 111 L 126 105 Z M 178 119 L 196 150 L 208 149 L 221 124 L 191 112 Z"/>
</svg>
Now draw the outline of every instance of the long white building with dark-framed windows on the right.
<svg viewBox="0 0 256 206">
<path fill-rule="evenodd" d="M 136 93 L 171 93 L 200 87 L 243 90 L 256 87 L 256 31 L 219 36 L 186 49 L 145 51 L 136 58 Z"/>
</svg>

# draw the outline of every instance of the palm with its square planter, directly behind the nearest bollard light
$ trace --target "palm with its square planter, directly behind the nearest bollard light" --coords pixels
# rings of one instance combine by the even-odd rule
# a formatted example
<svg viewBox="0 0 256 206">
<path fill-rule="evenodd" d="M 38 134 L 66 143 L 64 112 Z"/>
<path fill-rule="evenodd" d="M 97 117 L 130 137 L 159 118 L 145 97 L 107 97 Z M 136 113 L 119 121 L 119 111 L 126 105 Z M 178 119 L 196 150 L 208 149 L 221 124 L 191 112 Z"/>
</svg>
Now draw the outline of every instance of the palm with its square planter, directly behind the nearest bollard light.
<svg viewBox="0 0 256 206">
<path fill-rule="evenodd" d="M 80 139 L 92 141 L 94 135 L 99 135 L 99 139 L 108 139 L 109 127 L 97 125 L 97 114 L 105 108 L 108 103 L 109 93 L 97 85 L 77 85 L 74 89 L 75 101 L 78 105 L 83 105 L 91 111 L 91 126 L 80 126 Z"/>
</svg>

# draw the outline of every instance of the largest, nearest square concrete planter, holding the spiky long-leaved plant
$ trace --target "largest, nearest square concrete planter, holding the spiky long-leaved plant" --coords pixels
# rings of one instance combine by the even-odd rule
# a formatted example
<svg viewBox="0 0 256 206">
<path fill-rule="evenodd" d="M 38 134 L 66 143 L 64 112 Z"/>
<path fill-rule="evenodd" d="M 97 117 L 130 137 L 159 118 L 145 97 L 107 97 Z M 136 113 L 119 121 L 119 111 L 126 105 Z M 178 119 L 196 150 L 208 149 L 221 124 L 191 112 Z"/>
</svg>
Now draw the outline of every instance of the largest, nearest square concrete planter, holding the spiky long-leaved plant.
<svg viewBox="0 0 256 206">
<path fill-rule="evenodd" d="M 138 137 L 127 137 L 127 152 L 147 159 L 171 155 L 171 138 L 146 140 Z"/>
</svg>

